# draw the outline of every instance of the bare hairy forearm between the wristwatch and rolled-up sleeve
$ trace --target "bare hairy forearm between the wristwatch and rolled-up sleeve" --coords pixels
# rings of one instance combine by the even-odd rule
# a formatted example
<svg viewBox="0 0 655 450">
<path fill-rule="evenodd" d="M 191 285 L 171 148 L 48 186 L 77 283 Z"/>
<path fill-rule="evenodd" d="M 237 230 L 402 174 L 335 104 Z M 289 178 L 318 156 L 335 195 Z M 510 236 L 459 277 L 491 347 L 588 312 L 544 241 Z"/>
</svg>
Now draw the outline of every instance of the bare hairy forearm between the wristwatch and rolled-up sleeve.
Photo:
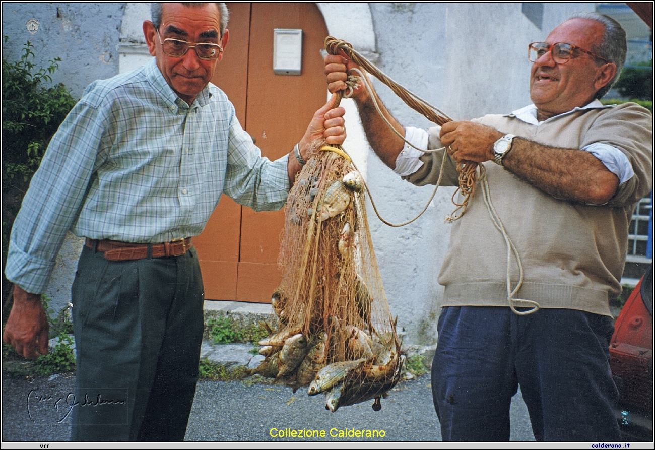
<svg viewBox="0 0 655 450">
<path fill-rule="evenodd" d="M 503 166 L 553 197 L 605 204 L 618 189 L 618 177 L 588 151 L 546 147 L 514 138 Z"/>
</svg>

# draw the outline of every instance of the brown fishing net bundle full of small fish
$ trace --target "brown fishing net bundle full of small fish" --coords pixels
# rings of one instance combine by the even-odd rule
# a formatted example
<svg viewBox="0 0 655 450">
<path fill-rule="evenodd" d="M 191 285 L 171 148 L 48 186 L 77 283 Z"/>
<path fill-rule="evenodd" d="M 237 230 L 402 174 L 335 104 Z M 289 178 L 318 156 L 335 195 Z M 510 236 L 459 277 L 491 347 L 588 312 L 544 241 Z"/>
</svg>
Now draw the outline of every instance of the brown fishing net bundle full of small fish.
<svg viewBox="0 0 655 450">
<path fill-rule="evenodd" d="M 259 342 L 266 358 L 250 373 L 324 393 L 330 411 L 367 400 L 379 411 L 405 357 L 373 253 L 364 180 L 340 147 L 322 147 L 298 175 L 278 264 L 278 329 Z"/>
</svg>

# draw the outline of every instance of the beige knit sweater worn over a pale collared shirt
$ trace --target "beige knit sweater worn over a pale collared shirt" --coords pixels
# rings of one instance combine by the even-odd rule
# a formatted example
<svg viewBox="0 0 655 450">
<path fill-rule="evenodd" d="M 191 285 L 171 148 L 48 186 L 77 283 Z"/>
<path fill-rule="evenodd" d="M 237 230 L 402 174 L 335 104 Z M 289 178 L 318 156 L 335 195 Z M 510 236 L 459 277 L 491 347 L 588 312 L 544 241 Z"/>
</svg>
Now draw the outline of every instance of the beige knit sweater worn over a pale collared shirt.
<svg viewBox="0 0 655 450">
<path fill-rule="evenodd" d="M 652 190 L 652 121 L 650 112 L 635 103 L 572 111 L 538 125 L 511 115 L 476 119 L 550 147 L 580 149 L 607 143 L 627 156 L 635 172 L 608 204 L 591 206 L 559 200 L 491 161 L 483 163 L 491 201 L 523 263 L 525 281 L 515 298 L 536 301 L 542 308 L 610 315 L 608 299 L 621 292 L 633 209 Z M 441 147 L 438 128 L 430 130 L 429 147 Z M 425 164 L 403 178 L 416 185 L 436 183 L 442 157 L 441 152 L 423 155 Z M 457 185 L 450 157 L 447 164 L 442 184 Z M 478 189 L 466 214 L 453 225 L 451 246 L 439 274 L 445 286 L 442 306 L 508 306 L 506 244 L 481 194 Z M 519 272 L 512 261 L 514 288 Z"/>
</svg>

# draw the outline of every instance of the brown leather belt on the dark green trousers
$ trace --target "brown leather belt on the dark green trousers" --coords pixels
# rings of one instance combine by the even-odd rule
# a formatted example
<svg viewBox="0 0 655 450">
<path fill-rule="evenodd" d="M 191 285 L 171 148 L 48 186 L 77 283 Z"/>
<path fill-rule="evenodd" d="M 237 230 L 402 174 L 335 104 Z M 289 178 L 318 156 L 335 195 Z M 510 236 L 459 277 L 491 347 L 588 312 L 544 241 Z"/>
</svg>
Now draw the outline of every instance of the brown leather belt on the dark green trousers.
<svg viewBox="0 0 655 450">
<path fill-rule="evenodd" d="M 94 248 L 94 244 L 97 244 L 96 250 L 104 252 L 105 259 L 109 259 L 109 261 L 181 256 L 193 246 L 191 238 L 175 239 L 162 244 L 132 244 L 132 242 L 120 242 L 118 240 L 86 238 L 85 245 L 88 248 Z M 150 252 L 149 249 L 151 249 Z"/>
</svg>

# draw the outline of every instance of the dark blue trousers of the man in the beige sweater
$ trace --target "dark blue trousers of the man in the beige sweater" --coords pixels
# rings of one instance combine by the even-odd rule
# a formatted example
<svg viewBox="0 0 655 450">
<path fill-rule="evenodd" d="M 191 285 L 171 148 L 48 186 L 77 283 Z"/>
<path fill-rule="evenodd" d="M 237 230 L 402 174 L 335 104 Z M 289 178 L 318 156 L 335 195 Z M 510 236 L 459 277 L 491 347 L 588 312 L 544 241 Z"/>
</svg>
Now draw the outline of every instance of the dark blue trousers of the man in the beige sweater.
<svg viewBox="0 0 655 450">
<path fill-rule="evenodd" d="M 618 441 L 607 316 L 444 307 L 432 397 L 444 441 L 508 441 L 520 384 L 537 441 Z"/>
</svg>

